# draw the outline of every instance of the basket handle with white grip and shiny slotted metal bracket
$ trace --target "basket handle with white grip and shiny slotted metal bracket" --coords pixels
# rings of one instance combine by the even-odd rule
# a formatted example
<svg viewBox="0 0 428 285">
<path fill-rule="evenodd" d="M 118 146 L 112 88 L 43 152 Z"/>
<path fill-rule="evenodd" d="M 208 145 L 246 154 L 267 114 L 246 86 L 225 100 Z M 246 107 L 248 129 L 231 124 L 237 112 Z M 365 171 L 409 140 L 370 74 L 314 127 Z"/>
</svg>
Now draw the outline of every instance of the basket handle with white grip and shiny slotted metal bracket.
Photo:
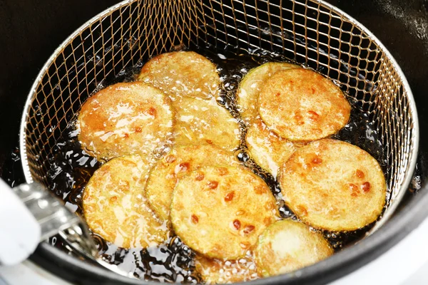
<svg viewBox="0 0 428 285">
<path fill-rule="evenodd" d="M 38 183 L 19 185 L 11 190 L 6 183 L 0 182 L 1 205 L 9 205 L 9 211 L 4 209 L 6 206 L 1 207 L 0 239 L 9 240 L 9 243 L 13 239 L 14 244 L 17 244 L 13 250 L 10 250 L 10 245 L 6 245 L 9 250 L 3 251 L 10 254 L 2 254 L 0 264 L 16 264 L 26 259 L 39 242 L 55 234 L 60 234 L 80 254 L 90 259 L 98 257 L 98 250 L 85 222 L 65 207 L 53 193 Z M 0 240 L 0 244 L 4 243 Z M 21 254 L 16 257 L 18 249 L 21 249 Z"/>
</svg>

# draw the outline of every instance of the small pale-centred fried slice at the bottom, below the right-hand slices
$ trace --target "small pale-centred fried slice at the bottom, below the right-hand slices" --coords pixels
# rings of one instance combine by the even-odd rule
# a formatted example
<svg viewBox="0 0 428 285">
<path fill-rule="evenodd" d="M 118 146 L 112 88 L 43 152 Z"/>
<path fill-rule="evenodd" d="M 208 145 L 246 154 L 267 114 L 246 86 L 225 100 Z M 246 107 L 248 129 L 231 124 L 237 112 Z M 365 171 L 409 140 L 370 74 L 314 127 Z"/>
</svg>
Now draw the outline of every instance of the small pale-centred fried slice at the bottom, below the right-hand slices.
<svg viewBox="0 0 428 285">
<path fill-rule="evenodd" d="M 267 227 L 254 251 L 255 264 L 263 277 L 295 271 L 332 254 L 333 250 L 322 234 L 290 219 Z"/>
</svg>

